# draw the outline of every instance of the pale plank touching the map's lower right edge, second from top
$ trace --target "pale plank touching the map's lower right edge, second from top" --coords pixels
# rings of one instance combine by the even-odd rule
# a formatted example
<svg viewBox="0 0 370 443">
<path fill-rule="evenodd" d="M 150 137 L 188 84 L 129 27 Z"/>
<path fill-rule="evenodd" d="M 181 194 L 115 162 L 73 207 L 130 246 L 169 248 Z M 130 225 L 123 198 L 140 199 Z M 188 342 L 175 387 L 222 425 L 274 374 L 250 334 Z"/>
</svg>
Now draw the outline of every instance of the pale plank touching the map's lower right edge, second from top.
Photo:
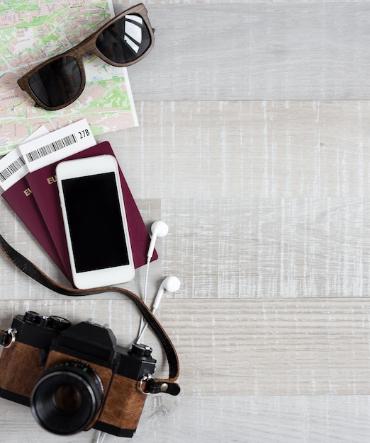
<svg viewBox="0 0 370 443">
<path fill-rule="evenodd" d="M 366 197 L 367 101 L 140 102 L 108 134 L 136 198 Z M 99 137 L 99 140 L 103 139 Z"/>
</svg>

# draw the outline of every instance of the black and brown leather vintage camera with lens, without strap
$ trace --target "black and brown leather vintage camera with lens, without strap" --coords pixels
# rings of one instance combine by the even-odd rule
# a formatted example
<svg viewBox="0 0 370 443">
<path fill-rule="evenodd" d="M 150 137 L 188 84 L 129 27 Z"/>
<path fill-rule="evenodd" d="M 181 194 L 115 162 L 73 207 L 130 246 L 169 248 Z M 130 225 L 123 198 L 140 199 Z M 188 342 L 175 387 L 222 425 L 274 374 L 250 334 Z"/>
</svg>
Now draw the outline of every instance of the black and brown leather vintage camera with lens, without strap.
<svg viewBox="0 0 370 443">
<path fill-rule="evenodd" d="M 0 357 L 0 396 L 30 406 L 46 430 L 133 437 L 155 371 L 151 348 L 117 345 L 111 329 L 33 311 L 13 318 L 16 341 Z"/>
</svg>

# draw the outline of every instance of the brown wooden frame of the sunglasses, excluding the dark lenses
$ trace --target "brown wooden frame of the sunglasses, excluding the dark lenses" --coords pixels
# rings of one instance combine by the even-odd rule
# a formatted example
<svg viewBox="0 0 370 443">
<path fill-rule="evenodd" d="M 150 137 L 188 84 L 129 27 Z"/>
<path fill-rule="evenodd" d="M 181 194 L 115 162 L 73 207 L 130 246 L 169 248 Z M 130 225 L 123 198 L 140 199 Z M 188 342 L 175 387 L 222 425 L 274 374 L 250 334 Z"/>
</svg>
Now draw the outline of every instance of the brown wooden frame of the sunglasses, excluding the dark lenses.
<svg viewBox="0 0 370 443">
<path fill-rule="evenodd" d="M 99 35 L 103 33 L 104 30 L 109 28 L 111 25 L 114 25 L 114 23 L 120 21 L 124 16 L 130 16 L 136 15 L 140 16 L 143 20 L 142 25 L 146 25 L 147 31 L 149 33 L 150 42 L 147 48 L 145 48 L 144 52 L 142 54 L 138 55 L 138 57 L 131 59 L 129 62 L 115 62 L 112 59 L 109 59 L 104 54 L 102 54 L 98 47 L 96 47 L 96 40 L 99 38 Z M 133 22 L 131 22 L 133 23 Z M 127 67 L 131 64 L 135 64 L 136 62 L 140 62 L 141 59 L 147 56 L 149 52 L 152 50 L 152 47 L 155 42 L 154 37 L 155 29 L 152 28 L 150 25 L 149 18 L 147 16 L 147 8 L 143 4 L 138 4 L 136 6 L 133 6 L 131 8 L 128 8 L 127 10 L 123 11 L 122 13 L 118 14 L 118 16 L 112 18 L 110 21 L 108 21 L 105 25 L 103 25 L 99 30 L 96 30 L 95 33 L 90 35 L 89 37 L 85 38 L 82 42 L 80 42 L 78 45 L 72 47 L 72 49 L 67 50 L 63 52 L 62 54 L 56 55 L 55 57 L 52 57 L 50 59 L 47 59 L 45 62 L 39 64 L 37 67 L 31 69 L 28 71 L 27 74 L 21 77 L 21 79 L 18 80 L 18 85 L 21 86 L 21 89 L 28 93 L 28 95 L 35 100 L 35 106 L 46 109 L 46 110 L 57 110 L 61 108 L 65 108 L 66 106 L 70 105 L 74 102 L 74 100 L 77 100 L 79 96 L 82 94 L 82 91 L 84 91 L 84 87 L 86 84 L 86 74 L 84 69 L 84 63 L 83 63 L 83 57 L 85 54 L 95 54 L 97 57 L 102 59 L 104 62 L 111 64 L 116 67 Z M 139 42 L 140 44 L 140 42 Z M 38 96 L 33 93 L 32 88 L 30 87 L 30 79 L 32 79 L 33 75 L 37 74 L 38 71 L 46 67 L 48 64 L 52 64 L 52 62 L 56 62 L 58 59 L 63 59 L 64 57 L 72 57 L 75 62 L 77 62 L 77 65 L 79 67 L 79 74 L 81 76 L 81 84 L 79 85 L 79 88 L 77 92 L 74 93 L 72 98 L 69 98 L 69 100 L 63 101 L 59 105 L 47 105 L 47 103 L 43 103 Z M 78 85 L 77 85 L 78 86 Z M 62 91 L 61 91 L 62 93 Z"/>
</svg>

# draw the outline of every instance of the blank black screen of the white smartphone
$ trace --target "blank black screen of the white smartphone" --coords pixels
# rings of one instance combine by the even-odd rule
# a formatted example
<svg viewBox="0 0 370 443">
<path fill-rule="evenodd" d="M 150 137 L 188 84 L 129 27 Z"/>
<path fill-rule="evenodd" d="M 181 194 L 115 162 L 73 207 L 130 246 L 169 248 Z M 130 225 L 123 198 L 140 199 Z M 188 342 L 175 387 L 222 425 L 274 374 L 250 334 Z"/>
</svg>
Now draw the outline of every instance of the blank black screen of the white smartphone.
<svg viewBox="0 0 370 443">
<path fill-rule="evenodd" d="M 128 265 L 113 172 L 62 180 L 76 272 Z"/>
</svg>

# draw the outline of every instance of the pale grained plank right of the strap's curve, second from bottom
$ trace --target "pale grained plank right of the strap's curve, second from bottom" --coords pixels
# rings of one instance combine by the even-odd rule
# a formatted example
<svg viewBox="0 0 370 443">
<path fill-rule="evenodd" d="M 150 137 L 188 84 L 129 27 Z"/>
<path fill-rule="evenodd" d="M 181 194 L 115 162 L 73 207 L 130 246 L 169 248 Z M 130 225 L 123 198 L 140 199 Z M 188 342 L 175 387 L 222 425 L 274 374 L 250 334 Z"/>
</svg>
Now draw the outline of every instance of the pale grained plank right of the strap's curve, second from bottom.
<svg viewBox="0 0 370 443">
<path fill-rule="evenodd" d="M 166 300 L 185 396 L 370 394 L 367 299 Z"/>
</svg>

